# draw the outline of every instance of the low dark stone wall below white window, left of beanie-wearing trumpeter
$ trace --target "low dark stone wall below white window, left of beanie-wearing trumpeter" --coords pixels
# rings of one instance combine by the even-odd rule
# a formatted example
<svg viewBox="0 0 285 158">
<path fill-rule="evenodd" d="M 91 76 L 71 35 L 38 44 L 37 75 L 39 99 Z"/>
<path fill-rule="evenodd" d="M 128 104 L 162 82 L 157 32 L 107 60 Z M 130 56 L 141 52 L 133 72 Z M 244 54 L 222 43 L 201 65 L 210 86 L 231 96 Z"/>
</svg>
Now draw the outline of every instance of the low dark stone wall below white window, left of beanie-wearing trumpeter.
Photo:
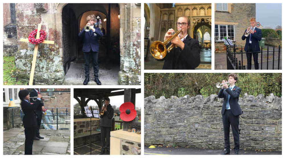
<svg viewBox="0 0 285 158">
<path fill-rule="evenodd" d="M 13 128 L 13 121 L 12 121 L 12 109 L 13 109 L 13 121 L 14 123 L 21 123 L 21 124 L 14 124 L 14 128 L 21 128 L 22 126 L 22 119 L 20 116 L 20 107 L 3 107 L 3 129 Z M 15 116 L 17 115 L 17 116 Z"/>
</svg>

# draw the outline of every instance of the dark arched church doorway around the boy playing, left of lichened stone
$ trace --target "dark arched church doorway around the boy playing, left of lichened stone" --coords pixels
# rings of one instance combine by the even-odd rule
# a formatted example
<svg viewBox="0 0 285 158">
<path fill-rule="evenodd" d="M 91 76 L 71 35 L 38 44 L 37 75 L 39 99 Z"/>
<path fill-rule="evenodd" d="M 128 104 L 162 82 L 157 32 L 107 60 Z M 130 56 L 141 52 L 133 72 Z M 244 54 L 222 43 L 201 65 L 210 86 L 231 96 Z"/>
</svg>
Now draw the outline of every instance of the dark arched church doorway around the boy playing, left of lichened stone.
<svg viewBox="0 0 285 158">
<path fill-rule="evenodd" d="M 62 9 L 64 84 L 82 84 L 85 78 L 83 43 L 82 39 L 78 38 L 78 34 L 86 25 L 88 15 L 95 15 L 97 20 L 95 24 L 101 29 L 101 32 L 105 32 L 105 35 L 98 41 L 99 79 L 101 76 L 101 78 L 109 79 L 106 80 L 105 84 L 118 84 L 120 70 L 120 9 L 117 3 L 64 4 Z M 93 66 L 90 68 L 90 77 L 92 78 L 92 76 Z M 95 82 L 92 81 L 89 84 L 95 84 Z"/>
</svg>

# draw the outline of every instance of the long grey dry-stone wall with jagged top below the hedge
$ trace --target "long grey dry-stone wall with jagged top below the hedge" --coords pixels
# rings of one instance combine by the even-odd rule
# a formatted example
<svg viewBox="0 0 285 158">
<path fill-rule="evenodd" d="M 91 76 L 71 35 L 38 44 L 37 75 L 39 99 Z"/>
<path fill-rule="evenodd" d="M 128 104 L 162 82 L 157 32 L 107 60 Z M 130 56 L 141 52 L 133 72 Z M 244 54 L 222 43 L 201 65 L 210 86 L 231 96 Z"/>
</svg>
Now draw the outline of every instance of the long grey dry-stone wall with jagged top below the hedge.
<svg viewBox="0 0 285 158">
<path fill-rule="evenodd" d="M 223 99 L 213 94 L 204 98 L 154 96 L 144 98 L 144 143 L 223 149 L 221 116 Z M 240 148 L 282 150 L 282 99 L 271 94 L 239 98 Z M 230 133 L 233 147 L 233 135 Z"/>
</svg>

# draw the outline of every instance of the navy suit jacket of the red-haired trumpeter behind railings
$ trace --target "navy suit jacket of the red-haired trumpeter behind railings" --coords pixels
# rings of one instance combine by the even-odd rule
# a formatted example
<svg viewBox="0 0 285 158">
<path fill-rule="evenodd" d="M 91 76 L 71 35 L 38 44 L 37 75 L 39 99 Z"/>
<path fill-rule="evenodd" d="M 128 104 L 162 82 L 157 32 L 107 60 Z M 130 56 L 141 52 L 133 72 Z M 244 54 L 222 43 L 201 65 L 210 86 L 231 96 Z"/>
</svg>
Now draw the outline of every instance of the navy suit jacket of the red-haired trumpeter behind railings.
<svg viewBox="0 0 285 158">
<path fill-rule="evenodd" d="M 247 30 L 245 30 L 246 32 Z M 254 34 L 251 35 L 251 45 L 252 45 L 252 51 L 255 52 L 255 51 L 260 51 L 260 48 L 259 48 L 259 42 L 261 40 L 261 30 L 257 27 L 255 27 L 255 30 L 256 32 L 254 32 Z M 245 40 L 246 39 L 246 42 L 245 42 L 245 52 L 248 52 L 248 49 L 249 49 L 249 38 L 250 38 L 250 35 L 245 37 L 244 35 L 241 37 L 242 40 Z"/>
</svg>

